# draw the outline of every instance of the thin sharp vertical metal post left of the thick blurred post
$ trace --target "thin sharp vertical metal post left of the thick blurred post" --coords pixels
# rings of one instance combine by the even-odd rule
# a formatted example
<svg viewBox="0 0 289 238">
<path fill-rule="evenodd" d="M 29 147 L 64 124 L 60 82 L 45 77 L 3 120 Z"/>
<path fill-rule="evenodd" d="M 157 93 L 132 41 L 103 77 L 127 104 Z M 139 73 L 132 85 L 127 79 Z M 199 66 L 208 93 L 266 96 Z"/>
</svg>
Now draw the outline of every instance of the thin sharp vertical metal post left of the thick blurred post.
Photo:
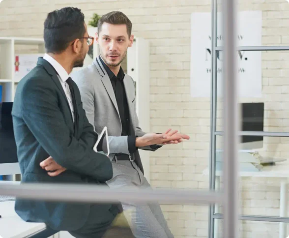
<svg viewBox="0 0 289 238">
<path fill-rule="evenodd" d="M 216 120 L 217 120 L 217 0 L 211 0 L 211 114 L 210 114 L 210 160 L 209 160 L 209 182 L 210 190 L 215 190 L 216 171 Z M 209 207 L 209 231 L 208 238 L 214 238 L 215 220 L 214 207 L 219 204 L 211 204 Z"/>
</svg>

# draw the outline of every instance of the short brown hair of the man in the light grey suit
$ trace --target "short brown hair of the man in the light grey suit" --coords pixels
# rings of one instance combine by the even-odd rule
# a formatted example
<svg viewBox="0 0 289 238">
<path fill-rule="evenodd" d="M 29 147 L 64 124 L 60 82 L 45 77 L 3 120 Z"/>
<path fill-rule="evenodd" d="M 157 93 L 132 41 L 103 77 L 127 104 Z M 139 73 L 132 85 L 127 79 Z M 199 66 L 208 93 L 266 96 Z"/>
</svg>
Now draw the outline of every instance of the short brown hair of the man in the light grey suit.
<svg viewBox="0 0 289 238">
<path fill-rule="evenodd" d="M 105 15 L 103 15 L 97 23 L 97 31 L 98 33 L 101 31 L 101 27 L 103 23 L 109 23 L 109 24 L 114 24 L 114 25 L 122 25 L 125 24 L 126 25 L 126 30 L 127 30 L 127 34 L 130 37 L 131 35 L 131 30 L 132 30 L 132 23 L 131 21 L 128 19 L 128 17 L 119 11 L 113 11 L 113 12 L 109 12 Z"/>
</svg>

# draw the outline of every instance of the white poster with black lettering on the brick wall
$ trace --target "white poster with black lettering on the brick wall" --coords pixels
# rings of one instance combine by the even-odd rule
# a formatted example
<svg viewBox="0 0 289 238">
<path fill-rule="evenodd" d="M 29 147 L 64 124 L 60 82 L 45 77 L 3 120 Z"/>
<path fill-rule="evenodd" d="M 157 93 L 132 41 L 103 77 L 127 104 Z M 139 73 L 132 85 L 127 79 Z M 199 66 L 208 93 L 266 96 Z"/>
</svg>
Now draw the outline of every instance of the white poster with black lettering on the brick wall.
<svg viewBox="0 0 289 238">
<path fill-rule="evenodd" d="M 217 16 L 217 46 L 223 46 L 222 13 Z M 261 11 L 238 13 L 237 46 L 261 46 Z M 210 97 L 211 93 L 211 13 L 191 14 L 191 96 Z M 217 96 L 223 91 L 223 51 L 217 53 Z M 261 51 L 238 51 L 239 97 L 261 97 Z"/>
</svg>

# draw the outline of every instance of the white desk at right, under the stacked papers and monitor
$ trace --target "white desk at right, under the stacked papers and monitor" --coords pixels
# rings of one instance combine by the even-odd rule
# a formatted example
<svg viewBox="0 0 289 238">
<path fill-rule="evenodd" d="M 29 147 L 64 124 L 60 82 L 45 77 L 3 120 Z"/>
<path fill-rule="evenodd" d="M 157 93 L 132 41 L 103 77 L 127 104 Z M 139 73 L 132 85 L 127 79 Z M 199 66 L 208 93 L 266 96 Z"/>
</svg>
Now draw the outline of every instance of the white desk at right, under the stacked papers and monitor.
<svg viewBox="0 0 289 238">
<path fill-rule="evenodd" d="M 209 175 L 209 169 L 203 171 L 203 175 Z M 220 189 L 220 177 L 223 175 L 222 171 L 216 171 L 216 191 Z M 287 183 L 289 179 L 289 164 L 286 162 L 277 163 L 275 166 L 266 166 L 262 171 L 258 172 L 239 172 L 240 177 L 260 177 L 260 178 L 280 178 L 280 216 L 287 216 Z M 219 212 L 218 205 L 215 206 L 215 212 Z M 287 234 L 286 223 L 279 224 L 279 238 L 285 238 Z M 218 227 L 215 227 L 215 238 L 218 237 Z"/>
</svg>

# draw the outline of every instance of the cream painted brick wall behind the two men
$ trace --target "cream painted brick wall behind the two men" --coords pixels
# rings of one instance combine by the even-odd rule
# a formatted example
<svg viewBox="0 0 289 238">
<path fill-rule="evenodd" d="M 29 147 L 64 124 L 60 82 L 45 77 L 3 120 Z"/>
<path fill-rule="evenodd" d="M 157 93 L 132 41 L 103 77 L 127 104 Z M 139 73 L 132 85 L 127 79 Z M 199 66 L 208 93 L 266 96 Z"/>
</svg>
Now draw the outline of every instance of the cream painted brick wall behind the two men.
<svg viewBox="0 0 289 238">
<path fill-rule="evenodd" d="M 202 173 L 209 162 L 210 98 L 190 97 L 190 14 L 210 12 L 210 0 L 4 0 L 0 4 L 0 36 L 42 37 L 46 14 L 64 6 L 81 8 L 87 22 L 94 12 L 123 11 L 133 23 L 133 33 L 150 41 L 151 131 L 172 127 L 191 136 L 189 142 L 151 153 L 151 184 L 208 189 L 208 176 Z M 289 3 L 285 0 L 242 0 L 239 10 L 262 10 L 263 45 L 289 44 Z M 242 99 L 265 103 L 266 131 L 289 129 L 288 61 L 285 51 L 263 52 L 262 98 Z M 217 125 L 221 129 L 221 100 Z M 217 140 L 221 147 L 222 138 Z M 260 153 L 286 157 L 288 141 L 284 137 L 264 138 Z M 241 182 L 242 213 L 279 215 L 280 179 L 244 178 Z M 207 237 L 207 206 L 162 205 L 162 209 L 175 238 Z M 271 238 L 279 233 L 277 223 L 244 222 L 240 229 L 244 238 Z"/>
</svg>

